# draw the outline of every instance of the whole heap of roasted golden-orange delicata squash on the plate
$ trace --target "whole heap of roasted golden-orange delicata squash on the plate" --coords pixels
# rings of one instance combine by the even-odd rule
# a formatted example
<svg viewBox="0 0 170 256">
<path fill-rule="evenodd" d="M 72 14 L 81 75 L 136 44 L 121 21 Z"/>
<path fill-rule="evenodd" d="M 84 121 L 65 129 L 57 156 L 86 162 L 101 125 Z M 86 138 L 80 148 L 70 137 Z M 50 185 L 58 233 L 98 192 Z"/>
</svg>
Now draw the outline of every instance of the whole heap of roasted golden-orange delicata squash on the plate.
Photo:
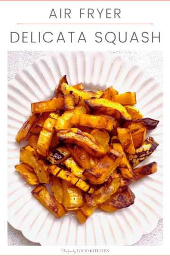
<svg viewBox="0 0 170 256">
<path fill-rule="evenodd" d="M 32 116 L 16 136 L 29 145 L 15 166 L 37 185 L 32 194 L 54 216 L 73 210 L 82 224 L 97 208 L 114 212 L 134 203 L 129 185 L 157 172 L 156 162 L 136 166 L 158 146 L 145 136 L 159 123 L 133 106 L 135 92 L 84 89 L 83 83 L 69 86 L 64 75 L 55 97 L 32 103 Z"/>
</svg>

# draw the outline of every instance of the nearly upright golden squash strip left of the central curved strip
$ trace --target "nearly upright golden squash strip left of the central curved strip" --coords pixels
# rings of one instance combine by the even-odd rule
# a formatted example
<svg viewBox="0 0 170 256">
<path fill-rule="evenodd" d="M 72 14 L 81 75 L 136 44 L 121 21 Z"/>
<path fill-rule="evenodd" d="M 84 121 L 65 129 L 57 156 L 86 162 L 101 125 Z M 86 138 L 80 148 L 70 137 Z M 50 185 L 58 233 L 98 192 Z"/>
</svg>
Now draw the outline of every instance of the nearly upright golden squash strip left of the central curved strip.
<svg viewBox="0 0 170 256">
<path fill-rule="evenodd" d="M 59 114 L 52 112 L 49 118 L 45 120 L 43 128 L 40 132 L 40 136 L 38 138 L 38 143 L 37 143 L 38 154 L 43 156 L 46 156 L 48 154 L 51 140 L 55 132 L 54 125 L 58 117 L 59 117 Z"/>
</svg>

